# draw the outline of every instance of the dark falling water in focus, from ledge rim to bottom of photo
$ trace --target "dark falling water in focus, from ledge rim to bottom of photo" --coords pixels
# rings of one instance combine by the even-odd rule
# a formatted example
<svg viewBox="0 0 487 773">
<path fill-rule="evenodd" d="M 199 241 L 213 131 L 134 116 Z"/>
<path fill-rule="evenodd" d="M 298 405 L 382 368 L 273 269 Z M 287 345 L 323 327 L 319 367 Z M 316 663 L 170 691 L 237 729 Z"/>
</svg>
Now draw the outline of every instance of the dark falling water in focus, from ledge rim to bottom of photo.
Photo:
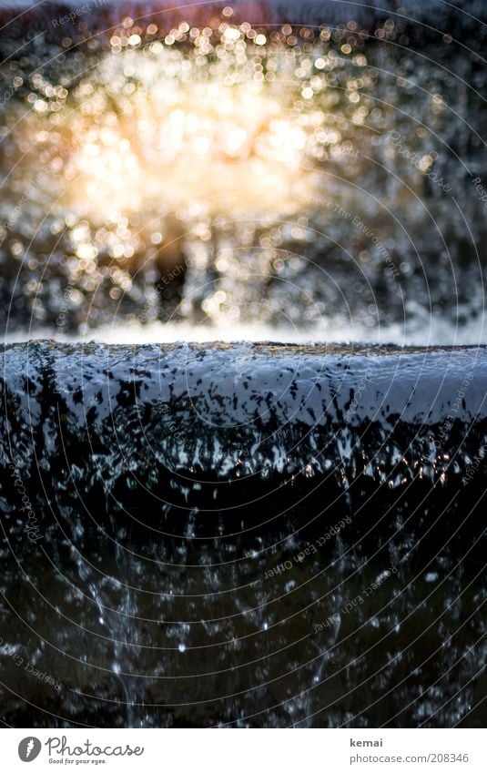
<svg viewBox="0 0 487 773">
<path fill-rule="evenodd" d="M 8 348 L 3 721 L 482 727 L 486 363 Z"/>
</svg>

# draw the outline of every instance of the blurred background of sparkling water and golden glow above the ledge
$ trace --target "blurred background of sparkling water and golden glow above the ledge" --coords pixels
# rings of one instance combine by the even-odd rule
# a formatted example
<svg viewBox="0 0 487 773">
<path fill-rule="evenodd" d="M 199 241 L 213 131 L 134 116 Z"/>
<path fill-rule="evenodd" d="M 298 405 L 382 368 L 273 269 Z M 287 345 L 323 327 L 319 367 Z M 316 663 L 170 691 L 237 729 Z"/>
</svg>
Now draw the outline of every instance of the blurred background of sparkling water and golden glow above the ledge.
<svg viewBox="0 0 487 773">
<path fill-rule="evenodd" d="M 482 4 L 3 5 L 7 340 L 484 341 Z"/>
</svg>

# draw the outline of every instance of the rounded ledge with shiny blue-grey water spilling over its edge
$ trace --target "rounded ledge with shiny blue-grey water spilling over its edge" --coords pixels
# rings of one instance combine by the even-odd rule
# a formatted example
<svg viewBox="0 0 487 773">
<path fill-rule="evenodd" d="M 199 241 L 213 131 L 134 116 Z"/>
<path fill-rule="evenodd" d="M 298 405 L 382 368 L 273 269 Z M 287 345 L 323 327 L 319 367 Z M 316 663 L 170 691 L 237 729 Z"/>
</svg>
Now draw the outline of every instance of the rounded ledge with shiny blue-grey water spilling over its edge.
<svg viewBox="0 0 487 773">
<path fill-rule="evenodd" d="M 41 509 L 250 517 L 285 486 L 354 510 L 485 471 L 484 348 L 41 341 L 5 347 L 1 376 L 0 464 Z"/>
</svg>

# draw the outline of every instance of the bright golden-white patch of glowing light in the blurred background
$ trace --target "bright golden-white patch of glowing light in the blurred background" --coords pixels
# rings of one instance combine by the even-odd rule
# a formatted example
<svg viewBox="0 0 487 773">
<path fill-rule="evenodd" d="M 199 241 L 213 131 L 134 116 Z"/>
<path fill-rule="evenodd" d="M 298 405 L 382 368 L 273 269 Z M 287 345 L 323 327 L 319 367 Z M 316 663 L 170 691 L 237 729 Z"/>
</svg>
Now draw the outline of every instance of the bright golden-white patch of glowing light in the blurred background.
<svg viewBox="0 0 487 773">
<path fill-rule="evenodd" d="M 223 40 L 233 45 L 239 35 L 228 28 Z M 200 78 L 195 70 L 166 49 L 153 58 L 140 50 L 107 56 L 98 74 L 107 94 L 92 78 L 72 119 L 81 139 L 70 159 L 70 208 L 117 219 L 198 202 L 238 217 L 284 213 L 309 193 L 301 168 L 309 119 L 291 109 L 285 90 L 251 72 Z"/>
</svg>

